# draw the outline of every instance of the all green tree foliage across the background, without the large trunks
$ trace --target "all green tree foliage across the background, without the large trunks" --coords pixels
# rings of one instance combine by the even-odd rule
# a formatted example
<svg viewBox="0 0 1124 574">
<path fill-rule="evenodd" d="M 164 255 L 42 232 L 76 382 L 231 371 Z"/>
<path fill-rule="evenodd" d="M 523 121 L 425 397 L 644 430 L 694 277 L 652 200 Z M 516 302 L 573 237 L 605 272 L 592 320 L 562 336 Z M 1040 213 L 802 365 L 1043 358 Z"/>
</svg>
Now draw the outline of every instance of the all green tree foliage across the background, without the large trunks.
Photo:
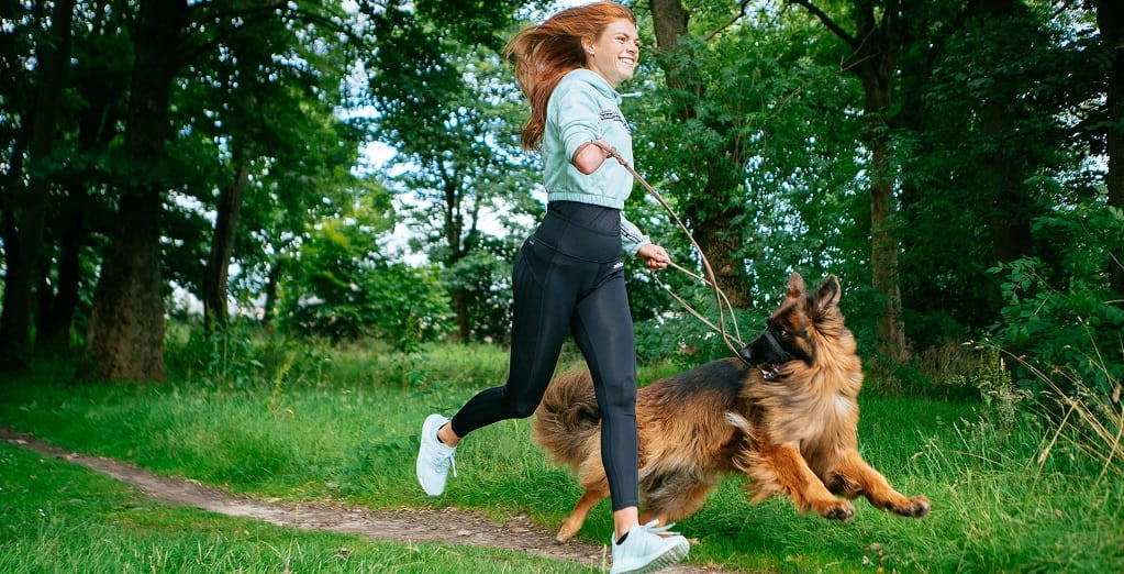
<svg viewBox="0 0 1124 574">
<path fill-rule="evenodd" d="M 636 167 L 695 233 L 713 231 L 715 214 L 733 214 L 718 231 L 742 263 L 734 272 L 747 282 L 747 313 L 772 308 L 794 269 L 833 272 L 861 355 L 886 375 L 876 384 L 951 396 L 924 365 L 876 365 L 886 302 L 869 287 L 870 158 L 860 143 L 861 87 L 840 68 L 849 48 L 805 10 L 767 5 L 691 3 L 679 50 L 645 51 L 643 69 L 622 87 L 642 93 L 623 102 Z M 166 199 L 162 288 L 198 294 L 219 190 L 247 167 L 230 268 L 243 308 L 272 319 L 278 293 L 281 330 L 377 334 L 411 351 L 447 334 L 453 313 L 468 340 L 506 339 L 510 261 L 542 213 L 537 158 L 516 144 L 526 102 L 496 53 L 518 26 L 513 18 L 528 14 L 518 2 L 192 5 L 161 165 L 138 164 L 124 147 L 138 5 L 80 3 L 55 150 L 21 165 L 48 6 L 0 8 L 3 189 L 18 190 L 29 174 L 51 179 L 40 313 L 74 287 L 71 324 L 84 331 L 117 194 L 143 180 L 161 182 Z M 821 6 L 844 27 L 856 9 Z M 640 10 L 645 36 L 652 16 Z M 1113 55 L 1095 16 L 1081 3 L 1023 3 L 1000 17 L 979 3 L 930 2 L 908 23 L 916 38 L 899 54 L 885 129 L 900 182 L 905 325 L 917 355 L 994 329 L 997 340 L 1102 392 L 1120 376 L 1118 304 L 1109 303 L 1120 295 L 1098 287 L 1113 244 L 1120 252 L 1118 215 L 1097 195 Z M 372 138 L 398 154 L 382 171 L 360 152 Z M 1015 185 L 998 185 L 997 170 Z M 402 201 L 392 205 L 391 194 Z M 682 233 L 643 192 L 626 208 L 677 262 L 697 267 Z M 1035 222 L 1025 246 L 1037 259 L 988 272 L 1001 260 L 994 231 L 1007 215 Z M 415 241 L 408 252 L 379 253 L 396 224 L 411 225 Z M 63 264 L 71 255 L 78 272 Z M 407 268 L 398 261 L 406 255 L 433 268 Z M 696 320 L 671 319 L 677 304 L 628 264 L 642 360 L 686 366 L 727 352 Z M 690 281 L 669 276 L 706 304 Z M 1036 278 L 1024 289 L 1026 276 Z M 760 325 L 742 326 L 751 337 Z M 1075 350 L 1085 341 L 1096 352 Z M 223 344 L 208 342 L 218 347 L 207 356 L 225 358 L 196 367 L 217 385 L 283 370 L 239 359 L 236 340 Z M 1097 352 L 1106 357 L 1099 375 Z"/>
</svg>

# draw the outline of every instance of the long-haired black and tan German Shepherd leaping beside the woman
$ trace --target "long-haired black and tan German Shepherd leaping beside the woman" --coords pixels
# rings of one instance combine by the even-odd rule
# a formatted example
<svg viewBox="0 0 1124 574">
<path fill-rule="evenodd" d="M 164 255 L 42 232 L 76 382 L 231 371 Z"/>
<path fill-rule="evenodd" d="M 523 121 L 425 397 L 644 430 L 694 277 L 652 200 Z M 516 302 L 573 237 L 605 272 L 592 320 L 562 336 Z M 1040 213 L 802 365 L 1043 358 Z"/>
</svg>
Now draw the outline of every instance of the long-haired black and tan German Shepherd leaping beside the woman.
<svg viewBox="0 0 1124 574">
<path fill-rule="evenodd" d="M 862 368 L 843 325 L 835 276 L 814 293 L 792 273 L 767 329 L 731 357 L 658 380 L 637 392 L 641 523 L 668 524 L 698 511 L 723 475 L 744 473 L 752 502 L 787 495 L 800 511 L 847 520 L 863 495 L 904 517 L 928 513 L 925 496 L 906 497 L 858 451 L 856 397 Z M 601 466 L 600 412 L 588 371 L 556 377 L 532 432 L 555 464 L 586 488 L 559 540 L 581 529 L 609 485 Z"/>
</svg>

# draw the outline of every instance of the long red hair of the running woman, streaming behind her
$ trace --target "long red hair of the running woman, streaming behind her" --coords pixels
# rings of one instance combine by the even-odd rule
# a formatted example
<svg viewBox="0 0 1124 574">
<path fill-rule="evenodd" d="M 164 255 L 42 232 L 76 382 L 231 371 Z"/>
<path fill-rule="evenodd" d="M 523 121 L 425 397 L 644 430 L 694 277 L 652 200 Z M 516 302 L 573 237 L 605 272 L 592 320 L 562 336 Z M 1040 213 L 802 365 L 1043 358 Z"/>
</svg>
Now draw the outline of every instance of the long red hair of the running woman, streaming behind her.
<svg viewBox="0 0 1124 574">
<path fill-rule="evenodd" d="M 531 102 L 531 119 L 523 126 L 519 143 L 533 150 L 546 131 L 546 102 L 566 73 L 586 65 L 582 39 L 597 41 L 609 24 L 628 20 L 632 10 L 615 2 L 595 2 L 566 8 L 546 21 L 524 28 L 504 48 L 506 60 L 515 60 L 515 80 Z"/>
</svg>

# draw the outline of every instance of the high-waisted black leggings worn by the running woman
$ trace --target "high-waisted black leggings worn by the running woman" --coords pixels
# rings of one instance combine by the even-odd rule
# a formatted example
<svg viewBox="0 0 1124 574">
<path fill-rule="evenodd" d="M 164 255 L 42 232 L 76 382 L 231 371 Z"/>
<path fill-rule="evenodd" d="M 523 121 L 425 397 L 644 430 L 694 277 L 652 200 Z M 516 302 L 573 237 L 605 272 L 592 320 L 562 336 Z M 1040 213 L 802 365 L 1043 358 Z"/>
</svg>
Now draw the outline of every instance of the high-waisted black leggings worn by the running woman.
<svg viewBox="0 0 1124 574">
<path fill-rule="evenodd" d="M 534 414 L 569 329 L 601 410 L 601 463 L 613 510 L 637 506 L 636 341 L 625 290 L 620 212 L 552 203 L 519 250 L 511 279 L 507 384 L 469 400 L 453 416 L 453 432 L 464 437 L 497 421 Z"/>
</svg>

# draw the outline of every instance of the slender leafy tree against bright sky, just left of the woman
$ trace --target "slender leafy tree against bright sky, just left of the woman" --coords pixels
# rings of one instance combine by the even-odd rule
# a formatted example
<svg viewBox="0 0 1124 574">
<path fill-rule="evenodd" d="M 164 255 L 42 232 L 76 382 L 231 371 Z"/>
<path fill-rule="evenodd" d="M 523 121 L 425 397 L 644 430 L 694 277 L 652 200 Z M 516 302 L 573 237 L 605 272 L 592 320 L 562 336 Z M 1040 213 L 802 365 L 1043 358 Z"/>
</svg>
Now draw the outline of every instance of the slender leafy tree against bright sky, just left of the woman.
<svg viewBox="0 0 1124 574">
<path fill-rule="evenodd" d="M 457 3 L 424 2 L 411 12 L 408 3 L 391 2 L 372 15 L 379 48 L 368 73 L 377 134 L 406 167 L 397 182 L 419 199 L 414 226 L 425 235 L 430 261 L 445 270 L 461 341 L 500 331 L 495 323 L 507 330 L 506 314 L 489 325 L 471 320 L 481 304 L 501 307 L 496 301 L 507 297 L 497 263 L 515 252 L 487 237 L 482 216 L 529 205 L 513 137 L 519 100 L 498 56 L 498 30 L 510 28 L 515 5 L 462 12 Z"/>
</svg>

